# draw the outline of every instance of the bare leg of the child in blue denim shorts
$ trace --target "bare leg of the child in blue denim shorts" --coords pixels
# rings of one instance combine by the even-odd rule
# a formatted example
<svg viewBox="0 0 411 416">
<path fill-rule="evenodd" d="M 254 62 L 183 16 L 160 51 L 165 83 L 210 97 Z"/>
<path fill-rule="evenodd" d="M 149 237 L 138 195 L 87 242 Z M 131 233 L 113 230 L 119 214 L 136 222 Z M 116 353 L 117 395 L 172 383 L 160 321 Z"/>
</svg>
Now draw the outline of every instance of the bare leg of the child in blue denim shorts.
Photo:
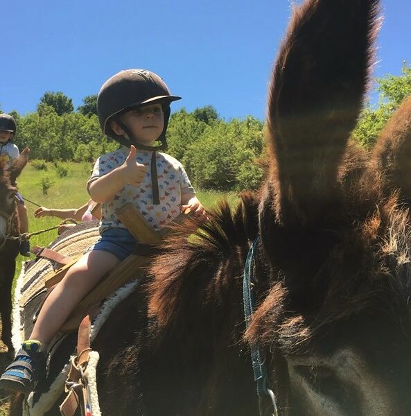
<svg viewBox="0 0 411 416">
<path fill-rule="evenodd" d="M 118 263 L 120 260 L 109 252 L 93 250 L 86 253 L 44 302 L 30 339 L 49 344 L 76 304 Z"/>
</svg>

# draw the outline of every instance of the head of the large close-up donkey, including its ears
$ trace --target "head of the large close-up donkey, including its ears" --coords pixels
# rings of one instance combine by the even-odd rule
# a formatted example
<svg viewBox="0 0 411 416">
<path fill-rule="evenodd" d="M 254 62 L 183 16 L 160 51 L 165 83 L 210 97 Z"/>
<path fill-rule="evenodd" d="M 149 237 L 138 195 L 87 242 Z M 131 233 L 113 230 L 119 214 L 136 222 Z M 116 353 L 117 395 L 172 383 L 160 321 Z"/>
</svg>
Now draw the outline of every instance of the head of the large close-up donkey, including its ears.
<svg viewBox="0 0 411 416">
<path fill-rule="evenodd" d="M 247 337 L 272 352 L 283 415 L 411 413 L 411 98 L 373 155 L 349 142 L 378 3 L 307 0 L 274 67 L 257 257 L 271 289 Z"/>
</svg>

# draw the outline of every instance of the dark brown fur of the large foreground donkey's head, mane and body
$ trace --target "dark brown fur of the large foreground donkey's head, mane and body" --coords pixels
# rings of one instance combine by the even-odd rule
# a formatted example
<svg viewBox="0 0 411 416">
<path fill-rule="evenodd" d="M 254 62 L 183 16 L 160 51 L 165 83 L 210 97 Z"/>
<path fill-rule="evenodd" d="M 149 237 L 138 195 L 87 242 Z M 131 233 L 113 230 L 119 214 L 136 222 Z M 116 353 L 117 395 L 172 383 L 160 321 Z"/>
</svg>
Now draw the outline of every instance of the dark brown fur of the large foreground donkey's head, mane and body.
<svg viewBox="0 0 411 416">
<path fill-rule="evenodd" d="M 295 8 L 270 84 L 265 183 L 234 211 L 222 203 L 209 222 L 170 237 L 150 279 L 107 320 L 94 344 L 103 414 L 258 415 L 253 344 L 281 416 L 328 416 L 326 402 L 337 403 L 333 415 L 411 413 L 410 101 L 374 153 L 349 141 L 378 6 L 306 0 Z M 246 331 L 243 270 L 253 241 L 256 310 Z M 361 364 L 348 383 L 330 366 L 344 347 Z M 292 361 L 307 357 L 320 361 Z M 364 375 L 382 385 L 383 405 L 363 403 L 355 386 Z M 306 410 L 299 393 L 308 390 L 321 395 L 311 401 L 321 410 Z"/>
</svg>

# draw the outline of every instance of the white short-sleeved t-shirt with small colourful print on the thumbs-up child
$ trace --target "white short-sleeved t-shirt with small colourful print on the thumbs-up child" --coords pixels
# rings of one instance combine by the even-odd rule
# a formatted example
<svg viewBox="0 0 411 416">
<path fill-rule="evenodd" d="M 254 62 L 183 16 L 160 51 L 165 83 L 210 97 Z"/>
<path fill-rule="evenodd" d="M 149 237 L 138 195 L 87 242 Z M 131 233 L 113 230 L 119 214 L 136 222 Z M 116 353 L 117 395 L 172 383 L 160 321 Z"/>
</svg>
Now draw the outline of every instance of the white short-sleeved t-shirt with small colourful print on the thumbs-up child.
<svg viewBox="0 0 411 416">
<path fill-rule="evenodd" d="M 103 175 L 111 172 L 114 168 L 121 166 L 128 157 L 130 150 L 125 146 L 112 153 L 100 156 L 94 164 L 93 173 L 87 182 L 89 184 Z M 146 218 L 148 223 L 157 231 L 164 227 L 170 220 L 180 214 L 181 197 L 184 193 L 194 193 L 189 177 L 177 159 L 166 153 L 156 153 L 157 180 L 159 184 L 159 205 L 152 203 L 151 186 L 151 157 L 152 152 L 148 150 L 137 150 L 136 161 L 148 166 L 146 177 L 139 187 L 126 185 L 110 202 L 101 205 L 100 234 L 111 227 L 125 228 L 117 218 L 117 208 L 132 202 Z"/>
</svg>

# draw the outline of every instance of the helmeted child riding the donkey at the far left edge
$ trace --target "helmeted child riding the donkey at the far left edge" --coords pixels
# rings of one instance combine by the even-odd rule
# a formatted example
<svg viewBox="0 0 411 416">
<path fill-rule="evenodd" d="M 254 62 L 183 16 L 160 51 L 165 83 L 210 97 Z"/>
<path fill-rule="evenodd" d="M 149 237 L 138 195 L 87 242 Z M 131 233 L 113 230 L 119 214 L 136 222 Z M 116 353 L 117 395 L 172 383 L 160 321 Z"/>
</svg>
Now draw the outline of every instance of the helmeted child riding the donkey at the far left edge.
<svg viewBox="0 0 411 416">
<path fill-rule="evenodd" d="M 9 114 L 0 114 L 0 161 L 6 162 L 10 166 L 13 159 L 19 157 L 19 148 L 11 142 L 16 133 L 16 122 Z M 20 232 L 24 234 L 28 232 L 27 208 L 24 200 L 19 193 L 16 194 L 17 209 L 19 211 Z M 30 243 L 28 240 L 22 240 L 20 243 L 20 254 L 30 256 Z"/>
</svg>

